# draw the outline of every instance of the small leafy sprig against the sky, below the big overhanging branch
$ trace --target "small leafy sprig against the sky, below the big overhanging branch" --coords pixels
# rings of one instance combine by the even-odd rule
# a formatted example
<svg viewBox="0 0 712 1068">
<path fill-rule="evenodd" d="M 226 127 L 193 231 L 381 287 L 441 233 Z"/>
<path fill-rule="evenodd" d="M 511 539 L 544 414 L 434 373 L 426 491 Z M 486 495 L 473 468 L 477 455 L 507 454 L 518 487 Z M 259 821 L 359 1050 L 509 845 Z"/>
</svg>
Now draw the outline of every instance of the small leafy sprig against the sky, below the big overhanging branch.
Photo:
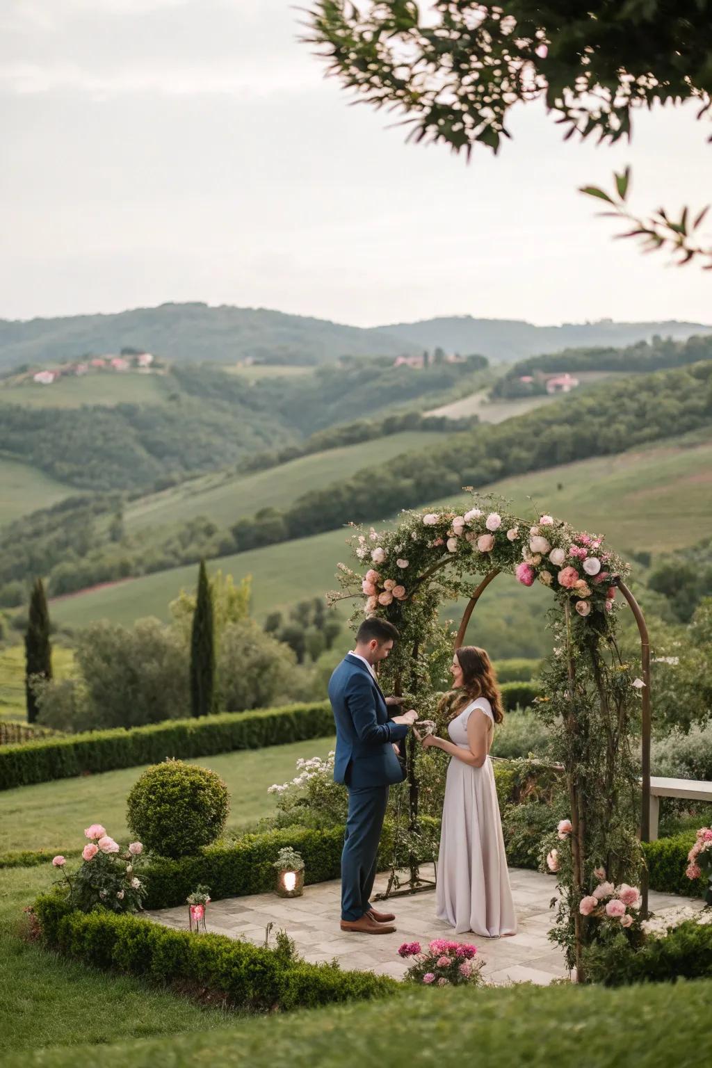
<svg viewBox="0 0 712 1068">
<path fill-rule="evenodd" d="M 640 238 L 645 252 L 668 250 L 676 257 L 675 262 L 679 267 L 689 264 L 695 257 L 699 257 L 708 261 L 703 265 L 703 269 L 712 270 L 712 245 L 705 246 L 697 237 L 710 205 L 703 207 L 694 218 L 691 216 L 690 209 L 683 207 L 677 222 L 662 207 L 653 211 L 647 219 L 640 219 L 628 206 L 630 176 L 630 168 L 626 168 L 622 174 L 614 174 L 615 188 L 611 193 L 606 193 L 598 186 L 584 186 L 580 192 L 612 205 L 614 210 L 601 211 L 602 216 L 623 219 L 632 225 L 632 230 L 618 234 L 618 237 Z"/>
</svg>

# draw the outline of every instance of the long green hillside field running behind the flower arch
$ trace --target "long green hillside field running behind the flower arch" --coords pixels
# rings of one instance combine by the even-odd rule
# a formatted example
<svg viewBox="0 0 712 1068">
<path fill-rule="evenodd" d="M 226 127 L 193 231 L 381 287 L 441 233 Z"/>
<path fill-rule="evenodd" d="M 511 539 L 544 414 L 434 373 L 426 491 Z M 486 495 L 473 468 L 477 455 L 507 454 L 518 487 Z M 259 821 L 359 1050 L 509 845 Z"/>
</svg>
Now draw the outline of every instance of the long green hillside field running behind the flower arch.
<svg viewBox="0 0 712 1068">
<path fill-rule="evenodd" d="M 662 552 L 692 545 L 709 533 L 712 516 L 712 433 L 619 456 L 583 460 L 511 478 L 488 487 L 511 498 L 523 515 L 541 512 L 606 535 L 620 549 Z M 557 488 L 560 485 L 560 489 Z M 671 521 L 675 517 L 675 521 Z M 267 612 L 335 586 L 335 567 L 346 557 L 345 530 L 256 549 L 213 561 L 235 579 L 252 575 L 254 611 Z M 107 617 L 129 624 L 144 615 L 167 618 L 180 586 L 192 588 L 196 568 L 183 567 L 53 601 L 54 619 L 79 627 Z M 503 579 L 488 588 L 478 607 L 477 633 L 493 656 L 542 656 L 550 646 L 541 628 L 548 595 L 538 586 Z M 520 644 L 515 648 L 516 638 Z"/>
</svg>

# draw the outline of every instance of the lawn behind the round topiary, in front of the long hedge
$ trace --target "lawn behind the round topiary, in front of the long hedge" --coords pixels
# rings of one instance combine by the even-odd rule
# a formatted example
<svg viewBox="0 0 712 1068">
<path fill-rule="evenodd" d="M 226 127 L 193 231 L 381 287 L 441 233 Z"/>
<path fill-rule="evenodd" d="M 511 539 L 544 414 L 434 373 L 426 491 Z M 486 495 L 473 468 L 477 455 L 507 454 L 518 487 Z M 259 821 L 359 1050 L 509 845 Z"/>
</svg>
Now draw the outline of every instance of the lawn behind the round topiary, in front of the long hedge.
<svg viewBox="0 0 712 1068">
<path fill-rule="evenodd" d="M 331 738 L 316 738 L 191 763 L 211 768 L 224 779 L 232 798 L 227 826 L 241 830 L 274 812 L 274 796 L 267 788 L 294 779 L 300 756 L 323 757 L 333 744 Z M 84 828 L 94 822 L 104 823 L 113 837 L 124 841 L 128 833 L 126 796 L 142 771 L 125 768 L 0 791 L 0 853 L 80 849 L 85 845 Z"/>
</svg>

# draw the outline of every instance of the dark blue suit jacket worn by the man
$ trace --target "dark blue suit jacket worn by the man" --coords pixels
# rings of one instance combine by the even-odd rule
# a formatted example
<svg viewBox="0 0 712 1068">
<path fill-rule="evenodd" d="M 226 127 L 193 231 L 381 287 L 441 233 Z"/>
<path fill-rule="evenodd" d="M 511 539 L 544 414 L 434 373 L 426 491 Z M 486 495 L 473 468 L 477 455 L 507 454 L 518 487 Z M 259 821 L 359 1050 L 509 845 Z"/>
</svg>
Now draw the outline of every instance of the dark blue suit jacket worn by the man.
<svg viewBox="0 0 712 1068">
<path fill-rule="evenodd" d="M 408 726 L 389 720 L 381 688 L 350 653 L 331 676 L 329 700 L 336 722 L 334 780 L 355 788 L 401 783 L 393 742 L 406 737 Z"/>
</svg>

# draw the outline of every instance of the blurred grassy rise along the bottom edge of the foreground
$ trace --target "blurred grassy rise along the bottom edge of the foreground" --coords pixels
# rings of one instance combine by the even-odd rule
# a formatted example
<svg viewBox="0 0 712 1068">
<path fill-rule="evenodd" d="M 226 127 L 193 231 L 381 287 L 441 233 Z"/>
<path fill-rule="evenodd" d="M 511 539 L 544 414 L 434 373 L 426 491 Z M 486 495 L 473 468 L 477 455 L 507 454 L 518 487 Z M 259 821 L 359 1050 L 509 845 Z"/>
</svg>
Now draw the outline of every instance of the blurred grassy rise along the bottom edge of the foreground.
<svg viewBox="0 0 712 1068">
<path fill-rule="evenodd" d="M 515 986 L 415 990 L 396 1000 L 243 1019 L 230 1031 L 121 1042 L 106 1068 L 698 1068 L 712 983 L 623 990 Z M 68 1068 L 91 1048 L 15 1056 L 6 1068 Z"/>
</svg>

